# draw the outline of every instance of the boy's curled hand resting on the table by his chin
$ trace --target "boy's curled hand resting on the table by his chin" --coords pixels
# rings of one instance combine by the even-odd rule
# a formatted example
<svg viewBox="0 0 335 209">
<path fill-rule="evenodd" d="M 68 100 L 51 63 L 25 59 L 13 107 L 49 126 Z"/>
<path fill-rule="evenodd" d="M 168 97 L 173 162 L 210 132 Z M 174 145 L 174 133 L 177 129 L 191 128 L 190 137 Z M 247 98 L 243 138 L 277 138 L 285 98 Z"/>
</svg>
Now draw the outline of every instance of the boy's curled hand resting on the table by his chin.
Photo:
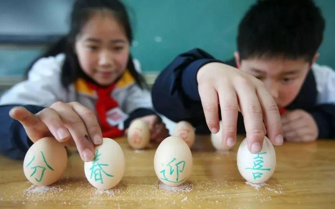
<svg viewBox="0 0 335 209">
<path fill-rule="evenodd" d="M 319 135 L 318 125 L 305 110 L 286 111 L 281 115 L 284 138 L 290 142 L 315 141 Z"/>
</svg>

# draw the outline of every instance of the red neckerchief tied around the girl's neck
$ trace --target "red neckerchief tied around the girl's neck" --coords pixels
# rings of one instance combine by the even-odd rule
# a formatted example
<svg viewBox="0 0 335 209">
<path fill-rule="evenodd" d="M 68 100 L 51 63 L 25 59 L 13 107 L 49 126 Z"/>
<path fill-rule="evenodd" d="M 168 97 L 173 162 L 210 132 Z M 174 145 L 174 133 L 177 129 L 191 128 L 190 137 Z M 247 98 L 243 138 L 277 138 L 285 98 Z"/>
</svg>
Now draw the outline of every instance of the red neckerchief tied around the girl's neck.
<svg viewBox="0 0 335 209">
<path fill-rule="evenodd" d="M 95 110 L 98 116 L 98 120 L 100 122 L 101 130 L 103 132 L 104 138 L 116 138 L 116 137 L 122 137 L 124 132 L 123 130 L 120 130 L 118 126 L 111 126 L 107 122 L 107 111 L 116 108 L 119 106 L 117 101 L 113 97 L 111 97 L 111 93 L 116 86 L 115 84 L 109 86 L 109 87 L 100 87 L 96 84 L 88 83 L 86 82 L 88 87 L 92 90 L 94 90 L 98 96 L 98 99 L 95 103 Z"/>
</svg>

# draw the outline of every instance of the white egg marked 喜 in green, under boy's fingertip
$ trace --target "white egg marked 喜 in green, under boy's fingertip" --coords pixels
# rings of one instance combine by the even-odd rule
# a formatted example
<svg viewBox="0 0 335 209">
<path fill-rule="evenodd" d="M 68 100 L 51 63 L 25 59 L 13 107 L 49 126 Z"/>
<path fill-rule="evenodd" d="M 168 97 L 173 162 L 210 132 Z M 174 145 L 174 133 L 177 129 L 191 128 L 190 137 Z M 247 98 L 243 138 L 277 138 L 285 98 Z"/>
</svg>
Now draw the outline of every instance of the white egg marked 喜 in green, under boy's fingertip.
<svg viewBox="0 0 335 209">
<path fill-rule="evenodd" d="M 254 154 L 248 150 L 244 139 L 237 152 L 237 167 L 241 175 L 253 184 L 267 181 L 276 167 L 276 153 L 270 140 L 264 137 L 262 150 Z"/>
</svg>

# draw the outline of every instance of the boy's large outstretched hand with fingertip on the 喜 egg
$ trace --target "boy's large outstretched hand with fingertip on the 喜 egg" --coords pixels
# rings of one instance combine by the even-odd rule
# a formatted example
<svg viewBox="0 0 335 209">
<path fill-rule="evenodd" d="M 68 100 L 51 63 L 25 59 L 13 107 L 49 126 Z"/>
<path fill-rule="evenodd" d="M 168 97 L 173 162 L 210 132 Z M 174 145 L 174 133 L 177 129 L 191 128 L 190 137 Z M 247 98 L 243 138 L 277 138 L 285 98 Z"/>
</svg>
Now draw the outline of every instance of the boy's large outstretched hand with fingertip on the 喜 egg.
<svg viewBox="0 0 335 209">
<path fill-rule="evenodd" d="M 272 144 L 283 143 L 278 107 L 260 80 L 234 67 L 212 62 L 199 69 L 197 81 L 206 122 L 212 133 L 219 130 L 220 104 L 223 144 L 233 146 L 236 143 L 239 110 L 244 116 L 251 152 L 261 151 L 266 131 Z"/>
</svg>

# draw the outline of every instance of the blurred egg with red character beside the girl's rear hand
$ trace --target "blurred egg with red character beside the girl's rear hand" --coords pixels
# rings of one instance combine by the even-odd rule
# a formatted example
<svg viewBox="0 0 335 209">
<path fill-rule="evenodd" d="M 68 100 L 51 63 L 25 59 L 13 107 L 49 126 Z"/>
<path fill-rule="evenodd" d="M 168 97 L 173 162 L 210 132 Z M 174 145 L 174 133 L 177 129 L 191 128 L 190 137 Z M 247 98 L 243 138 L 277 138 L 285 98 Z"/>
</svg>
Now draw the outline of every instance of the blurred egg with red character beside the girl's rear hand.
<svg viewBox="0 0 335 209">
<path fill-rule="evenodd" d="M 150 142 L 150 130 L 146 122 L 134 120 L 128 128 L 128 143 L 133 149 L 144 149 Z"/>
</svg>

